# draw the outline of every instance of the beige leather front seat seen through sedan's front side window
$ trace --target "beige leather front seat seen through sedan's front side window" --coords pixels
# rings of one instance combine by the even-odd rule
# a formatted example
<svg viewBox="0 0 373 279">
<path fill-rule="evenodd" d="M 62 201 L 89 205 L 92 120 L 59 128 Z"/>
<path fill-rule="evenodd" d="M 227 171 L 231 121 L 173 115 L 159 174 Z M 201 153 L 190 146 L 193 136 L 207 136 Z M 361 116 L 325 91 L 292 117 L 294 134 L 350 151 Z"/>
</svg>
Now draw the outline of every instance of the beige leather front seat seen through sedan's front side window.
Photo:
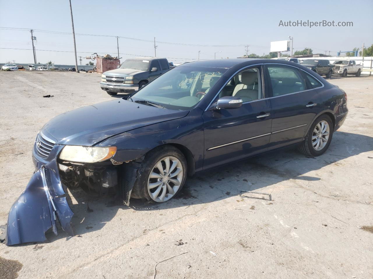
<svg viewBox="0 0 373 279">
<path fill-rule="evenodd" d="M 245 71 L 241 73 L 241 84 L 237 84 L 232 96 L 241 97 L 242 101 L 248 102 L 259 99 L 258 96 L 258 73 Z"/>
</svg>

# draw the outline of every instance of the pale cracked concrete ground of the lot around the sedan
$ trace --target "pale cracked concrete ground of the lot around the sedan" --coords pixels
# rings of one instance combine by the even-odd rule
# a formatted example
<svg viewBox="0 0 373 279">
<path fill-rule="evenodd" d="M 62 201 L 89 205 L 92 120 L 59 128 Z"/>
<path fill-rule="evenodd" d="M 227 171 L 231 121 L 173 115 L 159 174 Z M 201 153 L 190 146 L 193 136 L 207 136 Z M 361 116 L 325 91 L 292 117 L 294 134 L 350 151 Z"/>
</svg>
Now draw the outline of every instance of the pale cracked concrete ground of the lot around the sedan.
<svg viewBox="0 0 373 279">
<path fill-rule="evenodd" d="M 0 224 L 31 177 L 38 130 L 113 99 L 99 81 L 0 72 Z M 329 81 L 347 92 L 350 112 L 324 155 L 288 148 L 251 158 L 189 179 L 179 199 L 162 205 L 131 200 L 127 208 L 77 193 L 76 237 L 60 230 L 46 243 L 1 244 L 0 278 L 153 278 L 156 262 L 184 252 L 159 263 L 156 278 L 373 278 L 373 77 Z"/>
</svg>

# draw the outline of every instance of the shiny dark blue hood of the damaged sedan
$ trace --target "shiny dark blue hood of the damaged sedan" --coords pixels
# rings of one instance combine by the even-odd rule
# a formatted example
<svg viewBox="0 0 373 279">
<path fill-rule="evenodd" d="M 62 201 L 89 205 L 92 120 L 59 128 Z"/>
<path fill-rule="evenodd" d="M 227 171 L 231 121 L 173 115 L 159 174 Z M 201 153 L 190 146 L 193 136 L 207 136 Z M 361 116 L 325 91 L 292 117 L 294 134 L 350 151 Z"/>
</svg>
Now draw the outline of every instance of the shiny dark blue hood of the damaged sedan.
<svg viewBox="0 0 373 279">
<path fill-rule="evenodd" d="M 182 118 L 188 112 L 117 99 L 62 113 L 47 122 L 41 132 L 56 144 L 92 146 L 132 129 Z"/>
</svg>

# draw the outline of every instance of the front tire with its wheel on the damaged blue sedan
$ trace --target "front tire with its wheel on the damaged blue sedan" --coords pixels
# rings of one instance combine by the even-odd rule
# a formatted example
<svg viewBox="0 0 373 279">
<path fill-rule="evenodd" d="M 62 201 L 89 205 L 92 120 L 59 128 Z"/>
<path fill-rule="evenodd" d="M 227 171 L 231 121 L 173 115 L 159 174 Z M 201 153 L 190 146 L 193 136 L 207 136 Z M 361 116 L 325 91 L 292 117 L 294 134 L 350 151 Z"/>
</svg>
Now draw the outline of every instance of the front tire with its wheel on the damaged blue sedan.
<svg viewBox="0 0 373 279">
<path fill-rule="evenodd" d="M 163 170 L 167 169 L 166 158 L 170 159 L 168 175 L 161 174 L 158 167 L 161 164 Z M 141 175 L 136 179 L 132 191 L 134 198 L 145 198 L 147 201 L 159 203 L 170 200 L 178 195 L 184 186 L 187 171 L 185 157 L 179 149 L 171 145 L 155 148 L 145 155 L 142 162 Z"/>
</svg>

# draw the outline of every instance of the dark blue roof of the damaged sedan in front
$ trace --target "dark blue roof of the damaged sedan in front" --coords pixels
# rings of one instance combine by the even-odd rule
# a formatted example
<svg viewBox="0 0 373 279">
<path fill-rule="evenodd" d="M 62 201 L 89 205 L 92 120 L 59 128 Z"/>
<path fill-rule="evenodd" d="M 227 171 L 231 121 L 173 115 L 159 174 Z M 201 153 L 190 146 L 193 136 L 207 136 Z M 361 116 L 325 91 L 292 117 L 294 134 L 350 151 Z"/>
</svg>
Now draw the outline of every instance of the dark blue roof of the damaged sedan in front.
<svg viewBox="0 0 373 279">
<path fill-rule="evenodd" d="M 214 59 L 214 60 L 200 60 L 181 64 L 178 67 L 214 67 L 214 68 L 233 68 L 235 66 L 248 66 L 258 63 L 271 63 L 271 64 L 289 64 L 294 66 L 294 62 L 278 59 L 263 59 L 263 58 L 234 58 L 234 59 Z M 295 64 L 297 65 L 297 64 Z"/>
</svg>

